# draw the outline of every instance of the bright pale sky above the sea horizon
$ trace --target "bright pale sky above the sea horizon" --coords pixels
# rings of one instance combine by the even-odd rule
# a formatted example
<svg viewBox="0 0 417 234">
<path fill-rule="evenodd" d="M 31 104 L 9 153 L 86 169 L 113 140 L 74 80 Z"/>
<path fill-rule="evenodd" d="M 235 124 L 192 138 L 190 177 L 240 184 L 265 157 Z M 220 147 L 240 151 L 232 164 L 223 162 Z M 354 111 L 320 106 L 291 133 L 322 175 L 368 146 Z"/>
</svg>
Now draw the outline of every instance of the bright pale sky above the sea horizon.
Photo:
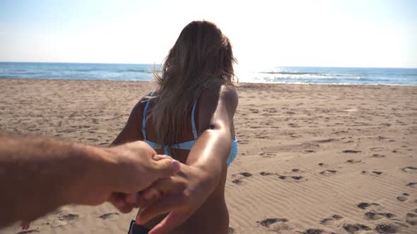
<svg viewBox="0 0 417 234">
<path fill-rule="evenodd" d="M 417 68 L 417 1 L 0 1 L 0 61 L 161 63 L 192 20 L 240 66 Z"/>
</svg>

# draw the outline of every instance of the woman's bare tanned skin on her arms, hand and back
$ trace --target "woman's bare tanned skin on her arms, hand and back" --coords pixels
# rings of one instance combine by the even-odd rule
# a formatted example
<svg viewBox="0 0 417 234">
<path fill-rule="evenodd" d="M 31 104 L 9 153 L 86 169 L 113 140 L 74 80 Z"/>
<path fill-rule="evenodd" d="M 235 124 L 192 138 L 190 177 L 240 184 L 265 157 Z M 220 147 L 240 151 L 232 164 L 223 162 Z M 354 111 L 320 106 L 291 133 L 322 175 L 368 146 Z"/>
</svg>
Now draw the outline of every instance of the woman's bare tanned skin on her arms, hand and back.
<svg viewBox="0 0 417 234">
<path fill-rule="evenodd" d="M 238 102 L 237 90 L 225 85 L 213 85 L 199 97 L 196 125 L 200 133 L 191 150 L 172 149 L 182 165 L 170 179 L 153 183 L 149 190 L 167 192 L 172 181 L 185 180 L 187 187 L 177 195 L 162 197 L 142 209 L 136 223 L 152 228 L 156 233 L 228 233 L 228 209 L 224 189 L 233 137 L 233 116 Z M 143 140 L 141 123 L 145 102 L 139 102 L 114 144 Z M 153 106 L 151 101 L 150 109 Z M 170 116 L 166 116 L 170 118 Z M 155 141 L 151 119 L 147 121 L 147 138 Z M 180 142 L 193 139 L 191 121 Z M 158 152 L 163 154 L 161 150 Z M 159 156 L 158 156 L 159 157 Z M 162 157 L 160 159 L 163 159 Z M 168 191 L 169 193 L 169 191 Z"/>
</svg>

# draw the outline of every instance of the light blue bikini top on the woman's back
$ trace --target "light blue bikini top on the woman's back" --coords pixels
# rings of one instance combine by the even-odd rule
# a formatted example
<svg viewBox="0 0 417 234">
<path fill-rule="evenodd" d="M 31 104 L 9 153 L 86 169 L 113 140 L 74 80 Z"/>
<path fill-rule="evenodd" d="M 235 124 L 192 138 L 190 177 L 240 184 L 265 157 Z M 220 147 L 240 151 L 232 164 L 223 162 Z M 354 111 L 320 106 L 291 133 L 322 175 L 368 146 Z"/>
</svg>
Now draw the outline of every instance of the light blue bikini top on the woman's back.
<svg viewBox="0 0 417 234">
<path fill-rule="evenodd" d="M 151 96 L 152 96 L 152 94 L 151 94 Z M 195 101 L 193 106 L 192 106 L 192 116 L 191 116 L 192 134 L 194 135 L 194 140 L 190 140 L 188 142 L 182 142 L 182 143 L 178 143 L 178 144 L 165 145 L 165 146 L 161 147 L 161 146 L 158 146 L 156 144 L 156 142 L 148 140 L 147 137 L 146 137 L 146 111 L 148 111 L 149 100 L 146 101 L 145 109 L 143 109 L 143 121 L 142 121 L 142 133 L 143 133 L 143 138 L 144 138 L 143 141 L 148 143 L 153 149 L 162 149 L 163 148 L 164 149 L 164 154 L 166 154 L 168 156 L 170 156 L 170 152 L 168 151 L 168 148 L 188 149 L 188 150 L 190 150 L 192 148 L 192 146 L 194 145 L 194 143 L 196 142 L 197 138 L 199 138 L 199 135 L 197 134 L 196 123 L 194 121 L 194 113 L 195 113 L 195 110 L 196 110 L 196 104 L 197 104 L 197 101 Z M 236 156 L 237 156 L 237 138 L 235 136 L 235 139 L 232 142 L 232 150 L 230 151 L 230 155 L 229 155 L 229 158 L 228 158 L 228 161 L 226 162 L 226 164 L 229 166 L 230 163 L 232 163 L 232 161 L 236 158 Z"/>
</svg>

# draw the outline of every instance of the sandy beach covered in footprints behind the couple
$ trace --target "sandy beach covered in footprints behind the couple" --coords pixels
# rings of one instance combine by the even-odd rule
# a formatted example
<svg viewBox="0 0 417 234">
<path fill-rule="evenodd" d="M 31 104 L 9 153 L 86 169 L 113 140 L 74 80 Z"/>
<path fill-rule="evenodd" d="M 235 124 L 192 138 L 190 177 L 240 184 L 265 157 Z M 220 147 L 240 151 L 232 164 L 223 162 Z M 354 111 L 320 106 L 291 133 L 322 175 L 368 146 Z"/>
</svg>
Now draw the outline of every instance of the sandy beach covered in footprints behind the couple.
<svg viewBox="0 0 417 234">
<path fill-rule="evenodd" d="M 0 130 L 107 146 L 154 87 L 0 79 Z M 417 233 L 416 86 L 242 83 L 237 90 L 230 233 Z M 135 215 L 110 204 L 66 206 L 23 233 L 127 233 Z"/>
</svg>

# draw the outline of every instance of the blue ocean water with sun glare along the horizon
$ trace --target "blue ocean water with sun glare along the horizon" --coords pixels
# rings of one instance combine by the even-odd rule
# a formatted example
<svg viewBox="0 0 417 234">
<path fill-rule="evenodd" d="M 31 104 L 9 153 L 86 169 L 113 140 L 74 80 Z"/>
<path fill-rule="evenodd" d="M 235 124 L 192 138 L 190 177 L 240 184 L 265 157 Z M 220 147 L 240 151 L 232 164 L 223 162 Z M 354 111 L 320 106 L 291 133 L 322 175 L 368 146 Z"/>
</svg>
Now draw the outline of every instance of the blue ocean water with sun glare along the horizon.
<svg viewBox="0 0 417 234">
<path fill-rule="evenodd" d="M 0 62 L 0 78 L 59 80 L 153 80 L 153 64 L 8 63 Z M 417 85 L 417 68 L 238 67 L 240 82 Z"/>
</svg>

